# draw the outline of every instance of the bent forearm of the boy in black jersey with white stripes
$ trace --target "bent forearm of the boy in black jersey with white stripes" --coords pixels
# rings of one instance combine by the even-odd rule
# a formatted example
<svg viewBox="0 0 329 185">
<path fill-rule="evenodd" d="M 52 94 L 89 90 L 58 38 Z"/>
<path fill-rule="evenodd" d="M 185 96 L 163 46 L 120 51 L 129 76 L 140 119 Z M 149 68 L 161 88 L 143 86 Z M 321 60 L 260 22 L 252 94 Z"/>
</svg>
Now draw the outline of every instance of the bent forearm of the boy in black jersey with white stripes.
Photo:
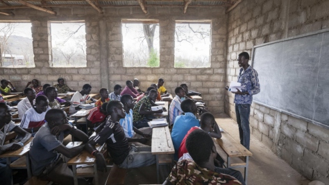
<svg viewBox="0 0 329 185">
<path fill-rule="evenodd" d="M 96 141 L 94 141 L 94 139 L 90 139 L 90 141 L 88 141 L 88 143 L 85 144 L 85 150 L 87 150 L 87 152 L 89 152 L 90 154 L 94 155 L 94 157 L 96 157 L 97 170 L 101 172 L 105 170 L 105 172 L 107 172 L 105 158 L 103 154 L 99 152 L 99 150 L 96 150 L 95 146 L 96 146 Z"/>
</svg>

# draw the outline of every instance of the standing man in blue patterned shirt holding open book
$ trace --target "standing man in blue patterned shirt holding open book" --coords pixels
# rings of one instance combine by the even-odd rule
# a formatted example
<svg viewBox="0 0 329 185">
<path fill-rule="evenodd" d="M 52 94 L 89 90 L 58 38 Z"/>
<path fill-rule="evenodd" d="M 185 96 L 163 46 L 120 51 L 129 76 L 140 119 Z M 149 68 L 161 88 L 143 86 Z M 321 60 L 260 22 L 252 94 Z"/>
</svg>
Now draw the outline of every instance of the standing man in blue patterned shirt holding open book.
<svg viewBox="0 0 329 185">
<path fill-rule="evenodd" d="M 239 125 L 240 143 L 249 150 L 250 146 L 250 128 L 249 116 L 250 105 L 253 102 L 253 95 L 260 92 L 260 82 L 258 73 L 249 64 L 249 54 L 242 52 L 238 58 L 239 67 L 242 67 L 237 78 L 237 82 L 244 86 L 242 91 L 237 89 L 235 94 L 235 114 L 237 115 L 237 125 Z"/>
</svg>

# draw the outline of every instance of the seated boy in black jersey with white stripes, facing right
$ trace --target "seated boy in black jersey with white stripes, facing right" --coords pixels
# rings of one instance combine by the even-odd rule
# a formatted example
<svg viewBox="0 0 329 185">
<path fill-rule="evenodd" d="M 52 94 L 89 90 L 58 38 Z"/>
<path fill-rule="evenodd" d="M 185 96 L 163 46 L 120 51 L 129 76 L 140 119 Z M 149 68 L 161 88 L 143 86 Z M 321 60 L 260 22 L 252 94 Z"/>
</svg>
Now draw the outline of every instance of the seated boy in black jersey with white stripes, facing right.
<svg viewBox="0 0 329 185">
<path fill-rule="evenodd" d="M 119 120 L 126 116 L 124 105 L 118 100 L 112 100 L 108 103 L 106 111 L 110 116 L 96 130 L 101 132 L 85 145 L 85 150 L 96 157 L 98 170 L 106 170 L 106 161 L 101 152 L 96 150 L 96 143 L 99 145 L 106 143 L 113 163 L 119 168 L 139 168 L 155 164 L 155 155 L 151 153 L 151 146 L 129 145 L 124 129 L 119 124 Z"/>
</svg>

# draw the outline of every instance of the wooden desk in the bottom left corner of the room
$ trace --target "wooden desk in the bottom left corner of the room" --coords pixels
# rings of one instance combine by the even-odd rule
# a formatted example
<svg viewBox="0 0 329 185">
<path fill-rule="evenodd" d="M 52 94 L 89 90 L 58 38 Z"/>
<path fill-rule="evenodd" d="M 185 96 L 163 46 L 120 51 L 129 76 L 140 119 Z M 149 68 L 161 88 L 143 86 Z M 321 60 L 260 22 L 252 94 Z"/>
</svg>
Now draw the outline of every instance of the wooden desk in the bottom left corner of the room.
<svg viewBox="0 0 329 185">
<path fill-rule="evenodd" d="M 0 155 L 0 158 L 7 158 L 7 164 L 10 165 L 10 168 L 14 168 L 12 166 L 17 166 L 17 168 L 24 168 L 24 169 L 26 168 L 27 173 L 28 173 L 28 179 L 30 179 L 32 177 L 30 157 L 28 154 L 28 151 L 30 150 L 30 145 L 31 145 L 32 139 L 33 139 L 33 137 L 28 139 L 28 141 L 26 141 L 24 143 L 24 147 L 19 148 L 18 150 L 14 150 L 14 151 L 7 151 L 7 152 L 3 153 L 2 155 Z M 22 157 L 24 157 L 24 155 L 25 155 L 25 161 L 26 161 L 25 166 L 24 166 L 24 164 L 22 164 L 22 161 L 24 161 L 24 158 L 22 158 Z M 17 159 L 17 161 L 14 161 L 11 164 L 10 157 L 19 157 L 19 159 Z M 13 184 L 13 182 L 11 182 L 11 183 Z"/>
</svg>

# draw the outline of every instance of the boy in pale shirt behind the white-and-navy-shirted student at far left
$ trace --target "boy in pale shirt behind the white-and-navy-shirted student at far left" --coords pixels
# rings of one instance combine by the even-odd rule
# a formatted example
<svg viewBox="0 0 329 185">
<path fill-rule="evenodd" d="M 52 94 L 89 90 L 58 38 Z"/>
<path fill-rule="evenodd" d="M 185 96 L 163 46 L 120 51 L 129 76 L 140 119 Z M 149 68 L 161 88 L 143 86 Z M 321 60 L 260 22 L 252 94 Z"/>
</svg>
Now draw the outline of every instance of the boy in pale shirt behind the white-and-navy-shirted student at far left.
<svg viewBox="0 0 329 185">
<path fill-rule="evenodd" d="M 17 104 L 17 111 L 18 111 L 18 118 L 22 118 L 25 112 L 28 109 L 31 109 L 32 105 L 35 104 L 35 90 L 32 88 L 25 88 L 24 94 L 26 98 L 24 98 L 22 101 L 20 101 Z"/>
</svg>

